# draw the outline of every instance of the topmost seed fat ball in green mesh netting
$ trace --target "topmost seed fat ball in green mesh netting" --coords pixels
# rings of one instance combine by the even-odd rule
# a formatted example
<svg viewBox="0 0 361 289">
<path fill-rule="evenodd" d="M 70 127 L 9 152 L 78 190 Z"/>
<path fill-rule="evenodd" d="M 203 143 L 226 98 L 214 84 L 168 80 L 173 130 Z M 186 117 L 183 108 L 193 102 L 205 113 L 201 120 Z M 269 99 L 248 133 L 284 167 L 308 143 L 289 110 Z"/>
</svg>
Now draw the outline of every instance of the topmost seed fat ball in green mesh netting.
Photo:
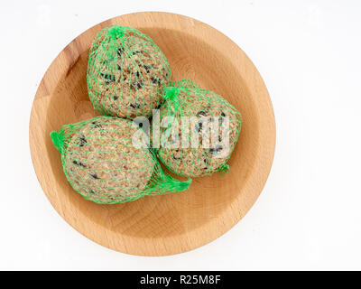
<svg viewBox="0 0 361 289">
<path fill-rule="evenodd" d="M 159 47 L 140 31 L 114 25 L 101 30 L 88 60 L 88 95 L 105 116 L 150 117 L 171 85 L 171 69 Z"/>
</svg>

